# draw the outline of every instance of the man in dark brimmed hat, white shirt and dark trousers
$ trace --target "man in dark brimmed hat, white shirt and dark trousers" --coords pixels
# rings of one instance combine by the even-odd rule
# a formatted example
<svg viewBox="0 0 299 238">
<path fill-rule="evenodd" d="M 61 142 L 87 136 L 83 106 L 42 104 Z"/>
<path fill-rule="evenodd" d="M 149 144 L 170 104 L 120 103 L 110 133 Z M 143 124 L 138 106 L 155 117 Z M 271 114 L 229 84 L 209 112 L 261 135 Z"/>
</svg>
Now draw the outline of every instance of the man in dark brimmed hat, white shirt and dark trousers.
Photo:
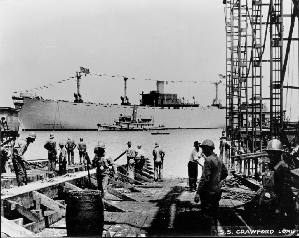
<svg viewBox="0 0 299 238">
<path fill-rule="evenodd" d="M 196 191 L 196 181 L 197 181 L 197 165 L 199 164 L 199 158 L 202 157 L 202 150 L 199 149 L 200 143 L 198 141 L 194 142 L 194 149 L 191 152 L 189 162 L 188 162 L 188 177 L 189 177 L 189 188 L 190 191 Z M 194 189 L 194 190 L 193 190 Z"/>
</svg>

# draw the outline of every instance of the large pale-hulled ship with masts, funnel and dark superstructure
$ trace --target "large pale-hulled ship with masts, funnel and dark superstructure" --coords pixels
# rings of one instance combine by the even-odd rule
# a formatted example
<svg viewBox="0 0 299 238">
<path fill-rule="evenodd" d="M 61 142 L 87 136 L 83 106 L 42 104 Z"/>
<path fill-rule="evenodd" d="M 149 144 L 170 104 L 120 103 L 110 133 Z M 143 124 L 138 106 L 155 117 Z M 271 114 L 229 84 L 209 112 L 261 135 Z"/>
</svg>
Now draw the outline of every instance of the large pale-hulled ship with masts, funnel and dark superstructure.
<svg viewBox="0 0 299 238">
<path fill-rule="evenodd" d="M 35 130 L 98 130 L 98 123 L 113 124 L 119 115 L 128 115 L 133 105 L 126 95 L 124 77 L 124 94 L 121 103 L 96 104 L 84 102 L 80 94 L 81 74 L 76 72 L 77 93 L 73 102 L 64 100 L 44 100 L 41 96 L 21 93 L 13 96 L 13 103 L 19 109 L 19 124 L 23 131 Z M 166 125 L 167 129 L 210 129 L 225 128 L 226 109 L 218 100 L 218 84 L 216 98 L 211 106 L 201 106 L 195 102 L 185 102 L 184 97 L 177 94 L 164 93 L 164 81 L 157 81 L 157 90 L 140 94 L 137 106 L 137 118 L 152 118 L 153 127 Z"/>
</svg>

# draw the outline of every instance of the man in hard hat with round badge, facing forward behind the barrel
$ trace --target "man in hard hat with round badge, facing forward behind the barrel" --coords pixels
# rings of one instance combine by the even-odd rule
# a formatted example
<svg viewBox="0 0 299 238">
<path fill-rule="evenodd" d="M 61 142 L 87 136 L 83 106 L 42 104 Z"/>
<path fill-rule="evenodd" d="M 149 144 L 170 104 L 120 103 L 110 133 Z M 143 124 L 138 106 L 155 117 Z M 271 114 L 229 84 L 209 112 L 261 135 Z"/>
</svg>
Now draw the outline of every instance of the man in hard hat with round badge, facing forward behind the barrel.
<svg viewBox="0 0 299 238">
<path fill-rule="evenodd" d="M 89 160 L 89 157 L 86 157 Z M 109 166 L 112 166 L 115 180 L 118 179 L 117 168 L 111 155 L 105 152 L 105 144 L 99 142 L 97 144 L 97 154 L 94 155 L 92 166 L 97 167 L 97 189 L 102 191 L 103 199 L 107 200 L 106 193 L 109 179 Z"/>
</svg>

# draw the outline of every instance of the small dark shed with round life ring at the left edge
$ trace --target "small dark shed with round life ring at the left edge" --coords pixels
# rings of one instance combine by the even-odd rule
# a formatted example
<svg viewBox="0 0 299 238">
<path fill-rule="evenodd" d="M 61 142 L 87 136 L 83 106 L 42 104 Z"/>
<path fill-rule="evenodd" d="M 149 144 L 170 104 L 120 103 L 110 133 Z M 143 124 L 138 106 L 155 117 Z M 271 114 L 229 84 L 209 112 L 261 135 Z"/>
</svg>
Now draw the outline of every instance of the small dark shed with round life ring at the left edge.
<svg viewBox="0 0 299 238">
<path fill-rule="evenodd" d="M 19 131 L 19 109 L 11 107 L 1 107 L 0 108 L 0 120 L 1 120 L 1 132 L 7 131 L 7 128 L 2 122 L 7 122 L 9 131 Z"/>
</svg>

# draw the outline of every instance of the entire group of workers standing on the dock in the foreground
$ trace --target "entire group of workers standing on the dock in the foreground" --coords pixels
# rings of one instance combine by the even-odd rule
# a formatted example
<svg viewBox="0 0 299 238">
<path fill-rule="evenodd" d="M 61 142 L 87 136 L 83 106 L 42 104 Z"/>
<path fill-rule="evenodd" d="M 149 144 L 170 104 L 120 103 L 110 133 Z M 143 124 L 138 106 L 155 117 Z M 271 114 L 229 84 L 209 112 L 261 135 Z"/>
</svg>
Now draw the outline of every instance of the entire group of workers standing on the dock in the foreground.
<svg viewBox="0 0 299 238">
<path fill-rule="evenodd" d="M 13 168 L 16 173 L 16 179 L 18 186 L 26 185 L 26 169 L 24 163 L 30 164 L 28 160 L 24 158 L 30 143 L 36 139 L 35 132 L 29 132 L 27 138 L 16 139 L 13 143 L 13 150 L 11 153 Z M 141 144 L 137 145 L 137 149 L 132 147 L 132 142 L 127 142 L 128 149 L 124 153 L 127 156 L 127 176 L 130 179 L 135 179 L 135 173 L 143 175 L 143 167 L 145 164 L 145 154 L 141 149 Z M 210 232 L 210 228 L 217 227 L 217 217 L 219 201 L 221 199 L 221 180 L 225 179 L 229 172 L 223 164 L 223 160 L 219 158 L 213 150 L 215 149 L 214 142 L 207 139 L 202 143 L 195 141 L 195 148 L 192 150 L 188 161 L 188 177 L 189 177 L 189 191 L 196 192 L 194 202 L 201 202 L 201 214 L 203 227 Z M 97 172 L 97 187 L 102 191 L 103 199 L 106 199 L 107 186 L 109 176 L 118 179 L 118 171 L 115 165 L 115 161 L 111 155 L 105 151 L 105 144 L 98 141 L 97 146 L 94 148 L 94 158 L 90 161 L 89 156 L 86 153 L 86 143 L 83 138 L 80 138 L 80 142 L 77 144 L 71 137 L 68 137 L 66 142 L 59 142 L 60 153 L 58 155 L 56 142 L 54 141 L 54 134 L 51 133 L 49 139 L 46 141 L 44 148 L 48 150 L 48 171 L 55 171 L 56 161 L 58 158 L 59 175 L 66 173 L 66 164 L 68 157 L 68 164 L 74 164 L 74 149 L 77 147 L 80 155 L 80 164 L 91 164 L 96 167 Z M 282 160 L 282 155 L 285 153 L 282 144 L 279 140 L 273 139 L 269 142 L 266 149 L 269 155 L 268 168 L 263 176 L 263 188 L 257 194 L 256 198 L 249 202 L 244 207 L 249 209 L 249 212 L 254 216 L 261 224 L 269 226 L 288 226 L 293 224 L 295 213 L 292 207 L 294 199 L 291 188 L 291 176 L 288 165 Z M 298 147 L 296 153 L 298 152 Z M 7 169 L 7 157 L 9 151 L 1 147 L 1 173 Z M 123 153 L 123 154 L 124 154 Z M 163 161 L 164 161 L 164 149 L 159 146 L 159 143 L 155 143 L 155 148 L 152 152 L 154 160 L 154 181 L 163 181 Z M 3 159 L 5 158 L 5 160 Z M 200 158 L 204 158 L 205 162 L 202 165 L 199 162 Z M 197 186 L 198 177 L 198 165 L 201 165 L 202 175 L 200 177 Z M 112 173 L 110 168 L 112 168 Z M 136 178 L 137 179 L 137 178 Z M 298 195 L 297 195 L 298 196 Z M 286 214 L 286 216 L 285 216 Z"/>
</svg>

